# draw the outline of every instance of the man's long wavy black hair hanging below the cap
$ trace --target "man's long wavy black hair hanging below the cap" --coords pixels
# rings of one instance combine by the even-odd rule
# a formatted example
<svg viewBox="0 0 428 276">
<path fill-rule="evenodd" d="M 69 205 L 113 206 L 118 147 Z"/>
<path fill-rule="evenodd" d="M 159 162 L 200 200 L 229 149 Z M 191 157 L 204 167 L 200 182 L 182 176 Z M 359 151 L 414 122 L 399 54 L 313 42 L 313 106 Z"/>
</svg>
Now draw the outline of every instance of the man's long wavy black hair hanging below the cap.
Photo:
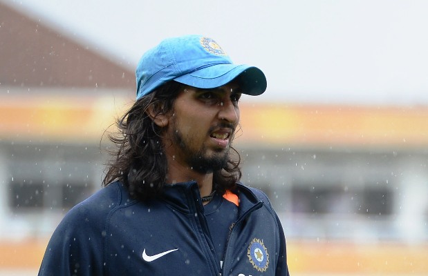
<svg viewBox="0 0 428 276">
<path fill-rule="evenodd" d="M 116 121 L 118 132 L 109 135 L 115 148 L 110 150 L 113 158 L 106 168 L 103 186 L 121 181 L 128 187 L 131 197 L 140 200 L 162 194 L 168 168 L 163 150 L 165 145 L 160 139 L 165 129 L 157 126 L 147 115 L 147 108 L 153 105 L 156 114 L 167 114 L 183 89 L 183 84 L 169 81 L 138 99 Z M 233 189 L 241 179 L 240 162 L 239 152 L 232 147 L 225 167 L 213 172 L 216 193 L 223 194 L 225 190 Z"/>
</svg>

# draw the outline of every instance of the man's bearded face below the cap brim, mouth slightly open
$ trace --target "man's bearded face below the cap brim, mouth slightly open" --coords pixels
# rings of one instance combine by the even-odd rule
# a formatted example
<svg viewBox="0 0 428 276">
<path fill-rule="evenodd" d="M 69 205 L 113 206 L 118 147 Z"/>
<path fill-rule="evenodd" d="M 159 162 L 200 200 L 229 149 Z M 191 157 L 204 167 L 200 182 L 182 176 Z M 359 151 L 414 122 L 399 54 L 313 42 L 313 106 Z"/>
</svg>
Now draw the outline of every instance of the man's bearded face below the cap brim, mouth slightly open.
<svg viewBox="0 0 428 276">
<path fill-rule="evenodd" d="M 186 86 L 168 119 L 165 153 L 198 172 L 223 168 L 239 124 L 240 97 L 234 82 L 213 89 Z"/>
</svg>

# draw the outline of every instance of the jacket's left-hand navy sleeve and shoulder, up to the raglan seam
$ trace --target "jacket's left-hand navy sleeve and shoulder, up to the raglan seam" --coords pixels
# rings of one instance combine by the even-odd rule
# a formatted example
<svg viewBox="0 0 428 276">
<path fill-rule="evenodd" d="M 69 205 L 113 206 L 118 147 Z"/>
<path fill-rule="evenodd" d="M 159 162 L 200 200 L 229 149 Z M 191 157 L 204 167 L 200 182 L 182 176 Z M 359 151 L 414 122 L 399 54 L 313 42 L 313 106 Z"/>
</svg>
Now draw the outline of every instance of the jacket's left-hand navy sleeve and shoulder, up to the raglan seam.
<svg viewBox="0 0 428 276">
<path fill-rule="evenodd" d="M 46 248 L 39 275 L 101 275 L 106 221 L 127 199 L 115 182 L 77 204 L 64 216 Z"/>
</svg>

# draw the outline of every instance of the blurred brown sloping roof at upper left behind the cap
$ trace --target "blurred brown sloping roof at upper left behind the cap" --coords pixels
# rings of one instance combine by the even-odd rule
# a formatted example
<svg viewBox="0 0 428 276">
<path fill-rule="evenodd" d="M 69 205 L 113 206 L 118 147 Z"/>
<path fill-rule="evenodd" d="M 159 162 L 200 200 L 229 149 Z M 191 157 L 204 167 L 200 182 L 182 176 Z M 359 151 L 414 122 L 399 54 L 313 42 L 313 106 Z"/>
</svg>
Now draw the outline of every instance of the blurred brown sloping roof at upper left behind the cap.
<svg viewBox="0 0 428 276">
<path fill-rule="evenodd" d="M 100 55 L 0 3 L 0 89 L 74 87 L 135 89 L 129 67 Z"/>
</svg>

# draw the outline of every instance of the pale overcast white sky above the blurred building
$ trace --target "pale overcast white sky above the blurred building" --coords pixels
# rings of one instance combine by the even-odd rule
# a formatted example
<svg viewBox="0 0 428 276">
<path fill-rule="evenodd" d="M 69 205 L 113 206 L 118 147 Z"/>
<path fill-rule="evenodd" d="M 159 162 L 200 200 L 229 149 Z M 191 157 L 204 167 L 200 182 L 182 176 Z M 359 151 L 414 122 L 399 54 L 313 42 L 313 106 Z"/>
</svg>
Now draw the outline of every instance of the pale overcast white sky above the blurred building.
<svg viewBox="0 0 428 276">
<path fill-rule="evenodd" d="M 165 37 L 212 37 L 265 72 L 258 101 L 428 106 L 425 0 L 0 1 L 131 68 Z"/>
</svg>

